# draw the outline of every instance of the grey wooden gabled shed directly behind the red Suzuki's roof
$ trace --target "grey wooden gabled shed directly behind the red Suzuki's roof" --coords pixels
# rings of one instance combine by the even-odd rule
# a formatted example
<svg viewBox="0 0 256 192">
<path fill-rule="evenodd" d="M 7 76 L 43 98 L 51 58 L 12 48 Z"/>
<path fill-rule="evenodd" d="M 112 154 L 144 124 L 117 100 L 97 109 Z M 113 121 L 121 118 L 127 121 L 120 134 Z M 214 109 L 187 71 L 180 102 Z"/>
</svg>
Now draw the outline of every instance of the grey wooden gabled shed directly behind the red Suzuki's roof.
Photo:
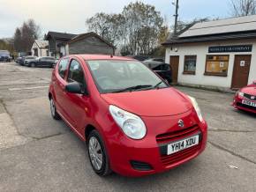
<svg viewBox="0 0 256 192">
<path fill-rule="evenodd" d="M 67 41 L 61 49 L 66 54 L 115 55 L 115 47 L 96 33 L 83 33 Z"/>
</svg>

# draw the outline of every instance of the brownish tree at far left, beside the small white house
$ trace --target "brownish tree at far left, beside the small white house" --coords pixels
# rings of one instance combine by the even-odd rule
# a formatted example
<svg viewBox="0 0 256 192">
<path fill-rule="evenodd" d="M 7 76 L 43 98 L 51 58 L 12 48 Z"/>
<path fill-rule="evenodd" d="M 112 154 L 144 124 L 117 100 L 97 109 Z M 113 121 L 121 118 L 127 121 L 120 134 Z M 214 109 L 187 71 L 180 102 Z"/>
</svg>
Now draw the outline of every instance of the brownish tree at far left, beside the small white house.
<svg viewBox="0 0 256 192">
<path fill-rule="evenodd" d="M 34 19 L 28 19 L 14 33 L 14 48 L 18 52 L 29 52 L 34 40 L 40 37 L 41 30 Z"/>
</svg>

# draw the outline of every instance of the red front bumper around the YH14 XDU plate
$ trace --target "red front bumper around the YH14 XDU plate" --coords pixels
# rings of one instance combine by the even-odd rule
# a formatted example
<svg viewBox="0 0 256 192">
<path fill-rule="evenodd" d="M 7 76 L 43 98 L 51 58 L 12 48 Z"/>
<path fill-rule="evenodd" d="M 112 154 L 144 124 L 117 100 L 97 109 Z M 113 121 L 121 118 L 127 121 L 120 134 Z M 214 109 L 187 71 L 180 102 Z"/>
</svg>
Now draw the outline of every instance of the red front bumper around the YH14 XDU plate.
<svg viewBox="0 0 256 192">
<path fill-rule="evenodd" d="M 145 138 L 136 141 L 124 136 L 124 134 L 120 134 L 116 136 L 115 139 L 110 139 L 108 142 L 108 152 L 112 170 L 117 174 L 125 176 L 143 176 L 167 171 L 197 157 L 206 148 L 207 122 L 199 123 L 199 121 L 193 118 L 194 116 L 195 114 L 188 112 L 169 117 L 143 118 L 143 121 L 147 124 L 147 136 Z M 177 133 L 180 128 L 177 127 L 176 122 L 179 119 L 183 119 L 186 125 L 192 124 L 192 126 L 186 126 L 186 130 L 196 127 L 195 131 L 200 131 L 200 144 L 184 149 L 183 151 L 178 151 L 169 156 L 164 155 L 162 154 L 161 146 L 187 136 L 192 136 L 192 134 L 195 133 L 187 133 L 184 136 L 180 135 L 170 140 L 168 140 L 169 138 L 167 138 L 167 140 L 159 140 L 156 138 L 156 136 L 161 136 L 165 133 L 170 133 L 170 136 L 173 135 L 171 134 L 172 132 Z M 169 126 L 169 124 L 171 124 L 170 122 L 175 123 Z M 152 168 L 150 170 L 136 169 L 132 166 L 131 162 L 133 161 L 145 163 Z"/>
</svg>

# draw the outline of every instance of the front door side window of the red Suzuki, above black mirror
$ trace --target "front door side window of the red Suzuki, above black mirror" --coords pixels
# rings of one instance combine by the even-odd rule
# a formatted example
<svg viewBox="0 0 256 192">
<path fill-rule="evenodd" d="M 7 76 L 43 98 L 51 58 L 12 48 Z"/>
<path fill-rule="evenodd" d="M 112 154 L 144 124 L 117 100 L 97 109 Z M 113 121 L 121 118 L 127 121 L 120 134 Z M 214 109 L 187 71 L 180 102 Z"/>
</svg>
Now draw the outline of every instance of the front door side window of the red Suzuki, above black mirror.
<svg viewBox="0 0 256 192">
<path fill-rule="evenodd" d="M 72 63 L 70 64 L 69 69 L 69 76 L 68 76 L 68 82 L 78 82 L 81 85 L 84 85 L 85 78 L 84 78 L 84 71 L 79 64 L 78 61 L 72 60 Z"/>
</svg>

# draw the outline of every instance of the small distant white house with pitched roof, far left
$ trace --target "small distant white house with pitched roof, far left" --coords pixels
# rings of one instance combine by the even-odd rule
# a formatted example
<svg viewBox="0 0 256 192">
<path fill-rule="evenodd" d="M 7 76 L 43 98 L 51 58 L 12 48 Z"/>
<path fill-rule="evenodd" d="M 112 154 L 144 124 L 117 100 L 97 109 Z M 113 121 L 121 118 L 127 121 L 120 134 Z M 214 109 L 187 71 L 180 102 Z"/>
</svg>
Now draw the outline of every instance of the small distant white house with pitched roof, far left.
<svg viewBox="0 0 256 192">
<path fill-rule="evenodd" d="M 49 44 L 48 41 L 35 40 L 31 48 L 31 55 L 34 56 L 48 56 Z"/>
</svg>

